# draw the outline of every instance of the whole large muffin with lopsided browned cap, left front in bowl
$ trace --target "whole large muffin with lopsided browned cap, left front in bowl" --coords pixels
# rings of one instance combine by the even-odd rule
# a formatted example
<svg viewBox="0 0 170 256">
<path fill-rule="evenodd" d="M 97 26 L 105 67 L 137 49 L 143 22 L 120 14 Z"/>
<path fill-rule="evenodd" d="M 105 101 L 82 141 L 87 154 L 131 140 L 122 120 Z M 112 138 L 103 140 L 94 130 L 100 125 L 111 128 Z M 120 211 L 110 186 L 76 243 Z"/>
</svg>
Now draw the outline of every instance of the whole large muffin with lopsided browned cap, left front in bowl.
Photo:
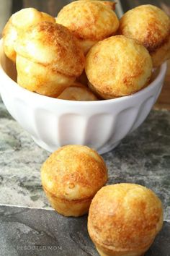
<svg viewBox="0 0 170 256">
<path fill-rule="evenodd" d="M 17 82 L 27 90 L 56 97 L 79 77 L 84 54 L 68 28 L 40 22 L 19 35 Z"/>
</svg>

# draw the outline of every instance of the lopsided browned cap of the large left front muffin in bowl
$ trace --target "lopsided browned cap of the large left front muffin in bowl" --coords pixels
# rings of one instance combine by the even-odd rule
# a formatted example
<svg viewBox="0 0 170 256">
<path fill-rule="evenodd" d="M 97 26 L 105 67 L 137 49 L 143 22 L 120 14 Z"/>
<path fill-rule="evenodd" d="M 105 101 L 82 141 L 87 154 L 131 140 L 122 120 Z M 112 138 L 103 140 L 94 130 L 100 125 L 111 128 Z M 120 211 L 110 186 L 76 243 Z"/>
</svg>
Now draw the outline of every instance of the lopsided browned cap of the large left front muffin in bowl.
<svg viewBox="0 0 170 256">
<path fill-rule="evenodd" d="M 76 77 L 84 69 L 84 54 L 68 28 L 52 22 L 40 22 L 19 35 L 17 54 L 47 66 L 55 72 Z"/>
</svg>

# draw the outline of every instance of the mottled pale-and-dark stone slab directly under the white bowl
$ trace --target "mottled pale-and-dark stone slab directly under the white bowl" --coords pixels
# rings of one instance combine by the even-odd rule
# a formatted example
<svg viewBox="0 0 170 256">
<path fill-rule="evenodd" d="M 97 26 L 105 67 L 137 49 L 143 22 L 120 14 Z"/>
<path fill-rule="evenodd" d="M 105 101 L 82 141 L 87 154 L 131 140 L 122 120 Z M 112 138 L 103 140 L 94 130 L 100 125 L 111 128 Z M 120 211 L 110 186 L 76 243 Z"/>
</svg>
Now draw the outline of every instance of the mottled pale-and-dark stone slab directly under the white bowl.
<svg viewBox="0 0 170 256">
<path fill-rule="evenodd" d="M 170 111 L 151 111 L 146 121 L 103 158 L 108 184 L 134 182 L 153 189 L 170 220 Z M 0 204 L 50 209 L 40 166 L 50 153 L 39 148 L 0 102 Z"/>
</svg>

